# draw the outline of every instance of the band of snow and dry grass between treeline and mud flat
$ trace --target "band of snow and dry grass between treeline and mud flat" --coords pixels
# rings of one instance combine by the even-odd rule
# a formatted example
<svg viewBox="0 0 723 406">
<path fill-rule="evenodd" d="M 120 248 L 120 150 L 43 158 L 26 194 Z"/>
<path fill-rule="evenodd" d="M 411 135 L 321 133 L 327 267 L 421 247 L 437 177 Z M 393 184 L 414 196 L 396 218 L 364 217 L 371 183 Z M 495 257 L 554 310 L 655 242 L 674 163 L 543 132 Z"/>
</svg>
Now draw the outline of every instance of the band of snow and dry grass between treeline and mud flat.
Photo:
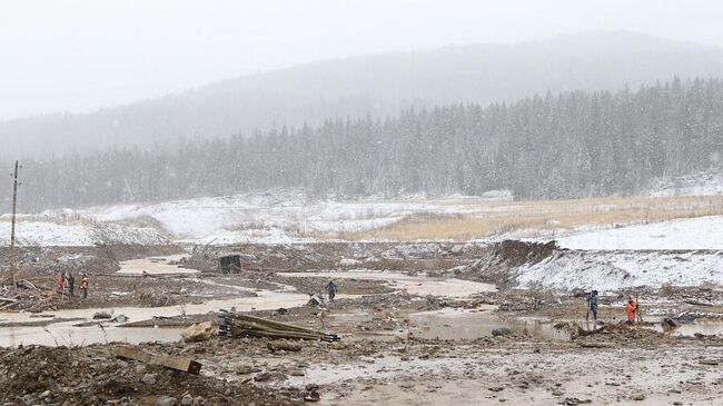
<svg viewBox="0 0 723 406">
<path fill-rule="evenodd" d="M 48 210 L 37 216 L 21 216 L 18 237 L 23 245 L 56 246 L 155 244 L 166 236 L 180 242 L 217 245 L 288 244 L 349 237 L 355 240 L 482 241 L 555 238 L 562 247 L 574 249 L 723 249 L 722 216 L 630 225 L 647 220 L 651 210 L 658 215 L 657 218 L 720 214 L 723 200 L 719 198 L 538 202 L 509 201 L 511 198 L 509 192 L 483 197 L 369 197 L 358 200 L 313 200 L 295 191 L 241 194 Z M 377 234 L 408 225 L 405 221 L 408 219 L 419 221 L 420 227 L 409 232 L 402 228 L 397 235 Z M 8 235 L 9 216 L 0 216 L 0 244 L 7 245 Z M 448 235 L 452 237 L 445 237 Z"/>
</svg>

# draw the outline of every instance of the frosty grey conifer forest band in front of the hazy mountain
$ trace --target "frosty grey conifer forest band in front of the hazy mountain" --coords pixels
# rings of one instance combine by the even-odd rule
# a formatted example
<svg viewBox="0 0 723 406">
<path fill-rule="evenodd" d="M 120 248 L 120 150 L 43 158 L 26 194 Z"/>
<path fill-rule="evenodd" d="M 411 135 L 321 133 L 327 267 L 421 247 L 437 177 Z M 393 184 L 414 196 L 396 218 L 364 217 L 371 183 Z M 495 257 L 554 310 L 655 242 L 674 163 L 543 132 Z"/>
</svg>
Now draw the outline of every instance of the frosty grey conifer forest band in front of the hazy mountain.
<svg viewBox="0 0 723 406">
<path fill-rule="evenodd" d="M 111 149 L 23 162 L 23 211 L 230 195 L 632 195 L 661 176 L 721 170 L 723 82 L 572 91 L 513 105 L 409 109 L 398 117 Z M 9 167 L 9 165 L 6 165 Z M 0 198 L 7 202 L 8 188 Z"/>
</svg>

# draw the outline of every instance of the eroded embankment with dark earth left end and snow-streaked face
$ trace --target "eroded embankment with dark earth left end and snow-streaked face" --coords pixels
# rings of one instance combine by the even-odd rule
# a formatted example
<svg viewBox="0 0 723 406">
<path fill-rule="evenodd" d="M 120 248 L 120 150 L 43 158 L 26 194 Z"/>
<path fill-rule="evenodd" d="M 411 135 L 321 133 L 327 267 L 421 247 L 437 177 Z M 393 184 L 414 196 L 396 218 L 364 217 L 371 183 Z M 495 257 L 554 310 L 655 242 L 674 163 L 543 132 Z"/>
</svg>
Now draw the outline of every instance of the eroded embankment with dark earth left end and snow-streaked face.
<svg viewBox="0 0 723 406">
<path fill-rule="evenodd" d="M 554 241 L 506 240 L 455 276 L 498 287 L 618 290 L 631 287 L 723 285 L 720 250 L 571 250 Z"/>
</svg>

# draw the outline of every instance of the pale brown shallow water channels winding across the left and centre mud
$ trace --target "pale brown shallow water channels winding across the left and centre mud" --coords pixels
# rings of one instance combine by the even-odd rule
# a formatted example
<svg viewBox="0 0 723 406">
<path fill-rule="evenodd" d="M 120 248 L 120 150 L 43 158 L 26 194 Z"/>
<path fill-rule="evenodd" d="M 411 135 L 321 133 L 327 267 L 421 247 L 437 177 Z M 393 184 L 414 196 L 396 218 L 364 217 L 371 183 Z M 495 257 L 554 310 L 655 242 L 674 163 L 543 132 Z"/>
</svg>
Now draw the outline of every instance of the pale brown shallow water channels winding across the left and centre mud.
<svg viewBox="0 0 723 406">
<path fill-rule="evenodd" d="M 179 256 L 146 258 L 121 263 L 120 274 L 142 275 L 147 274 L 182 274 L 195 273 L 192 270 L 178 268 L 171 265 L 171 260 L 180 259 Z M 395 273 L 298 273 L 283 274 L 293 277 L 324 276 L 330 278 L 358 278 L 386 280 L 392 287 L 407 290 L 416 295 L 435 295 L 444 297 L 467 297 L 475 293 L 493 291 L 495 287 L 488 284 L 479 284 L 459 279 L 437 279 L 425 276 L 408 276 Z M 212 280 L 192 279 L 196 283 L 219 285 Z M 226 285 L 224 285 L 226 286 Z M 111 311 L 113 315 L 125 315 L 129 321 L 140 321 L 157 317 L 172 317 L 179 315 L 199 315 L 219 309 L 235 307 L 239 311 L 277 309 L 280 307 L 290 308 L 306 304 L 308 295 L 299 294 L 290 287 L 280 286 L 277 290 L 250 289 L 239 286 L 229 286 L 234 289 L 254 291 L 256 297 L 242 297 L 236 299 L 208 300 L 202 304 L 187 304 L 180 306 L 165 307 L 113 307 L 113 308 L 89 308 L 67 309 L 49 311 L 55 319 L 75 319 L 72 321 L 50 323 L 47 326 L 14 326 L 2 327 L 3 323 L 30 323 L 39 318 L 31 317 L 29 313 L 0 313 L 0 346 L 12 347 L 20 344 L 40 345 L 87 345 L 92 343 L 123 341 L 176 341 L 180 338 L 180 328 L 149 328 L 149 327 L 119 327 L 118 324 L 103 320 L 103 327 L 73 326 L 79 323 L 92 320 L 93 314 L 100 310 Z M 456 321 L 463 323 L 465 317 Z M 476 323 L 474 317 L 471 323 Z M 476 334 L 476 333 L 475 333 Z"/>
</svg>

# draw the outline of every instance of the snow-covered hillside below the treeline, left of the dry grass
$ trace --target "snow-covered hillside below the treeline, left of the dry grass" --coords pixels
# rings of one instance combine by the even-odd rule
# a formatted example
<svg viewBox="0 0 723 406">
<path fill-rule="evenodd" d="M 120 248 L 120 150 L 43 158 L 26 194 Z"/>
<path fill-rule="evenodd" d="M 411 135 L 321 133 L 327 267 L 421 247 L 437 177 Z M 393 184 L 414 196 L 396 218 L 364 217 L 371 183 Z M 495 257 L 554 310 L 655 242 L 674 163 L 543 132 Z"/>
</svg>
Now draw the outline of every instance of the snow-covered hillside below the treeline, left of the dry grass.
<svg viewBox="0 0 723 406">
<path fill-rule="evenodd" d="M 398 200 L 370 197 L 356 201 L 311 201 L 304 194 L 286 191 L 95 207 L 81 210 L 79 215 L 98 221 L 150 217 L 174 238 L 189 242 L 291 242 L 306 241 L 327 232 L 376 229 L 414 214 L 479 214 L 483 208 L 469 202 L 511 198 L 508 191 L 495 191 L 483 197 Z"/>
</svg>

